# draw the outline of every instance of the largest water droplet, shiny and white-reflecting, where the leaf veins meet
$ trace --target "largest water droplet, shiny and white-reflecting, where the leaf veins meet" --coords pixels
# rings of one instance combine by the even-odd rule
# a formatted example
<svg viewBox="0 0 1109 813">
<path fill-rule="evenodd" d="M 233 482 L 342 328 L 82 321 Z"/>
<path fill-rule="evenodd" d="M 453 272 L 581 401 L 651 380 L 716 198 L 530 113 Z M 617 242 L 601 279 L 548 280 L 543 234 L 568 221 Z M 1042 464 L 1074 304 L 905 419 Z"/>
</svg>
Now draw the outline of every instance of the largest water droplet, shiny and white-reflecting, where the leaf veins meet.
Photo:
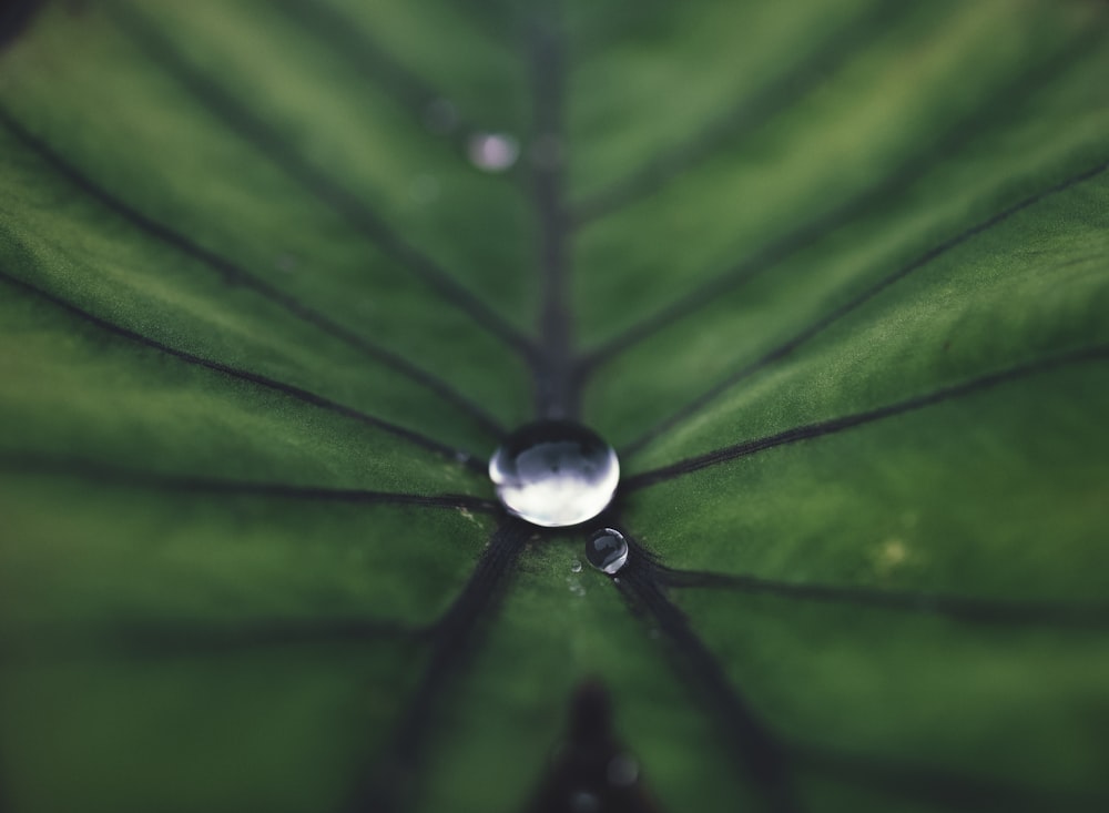
<svg viewBox="0 0 1109 813">
<path fill-rule="evenodd" d="M 540 420 L 515 431 L 489 460 L 505 507 L 545 528 L 586 522 L 603 511 L 620 482 L 612 447 L 583 426 Z"/>
</svg>

